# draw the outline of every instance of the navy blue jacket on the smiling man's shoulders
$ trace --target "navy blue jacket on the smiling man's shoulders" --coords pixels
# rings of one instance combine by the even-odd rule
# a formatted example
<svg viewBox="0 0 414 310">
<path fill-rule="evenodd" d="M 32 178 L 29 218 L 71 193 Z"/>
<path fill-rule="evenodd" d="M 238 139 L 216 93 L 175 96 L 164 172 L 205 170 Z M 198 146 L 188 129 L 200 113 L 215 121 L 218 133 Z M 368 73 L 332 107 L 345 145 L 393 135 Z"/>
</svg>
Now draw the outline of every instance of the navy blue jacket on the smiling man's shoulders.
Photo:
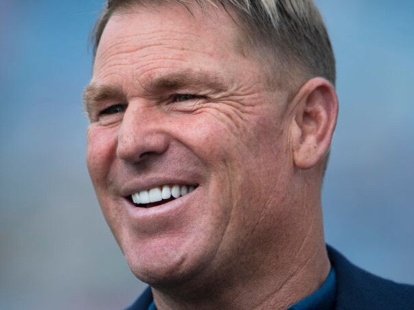
<svg viewBox="0 0 414 310">
<path fill-rule="evenodd" d="M 350 263 L 334 248 L 327 252 L 336 272 L 337 310 L 414 310 L 414 286 L 374 276 Z M 127 310 L 147 310 L 152 302 L 148 287 Z M 317 309 L 315 309 L 317 310 Z"/>
</svg>

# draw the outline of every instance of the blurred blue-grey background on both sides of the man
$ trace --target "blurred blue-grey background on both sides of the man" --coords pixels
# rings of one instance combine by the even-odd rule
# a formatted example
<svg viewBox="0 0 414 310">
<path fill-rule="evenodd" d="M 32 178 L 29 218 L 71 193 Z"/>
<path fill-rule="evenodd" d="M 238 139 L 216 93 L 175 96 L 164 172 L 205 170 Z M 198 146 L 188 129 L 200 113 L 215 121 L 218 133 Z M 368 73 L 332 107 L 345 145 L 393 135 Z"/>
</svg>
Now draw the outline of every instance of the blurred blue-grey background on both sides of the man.
<svg viewBox="0 0 414 310">
<path fill-rule="evenodd" d="M 327 242 L 414 284 L 414 2 L 319 0 L 341 108 Z M 0 308 L 122 309 L 144 285 L 100 213 L 82 91 L 102 0 L 0 1 Z"/>
</svg>

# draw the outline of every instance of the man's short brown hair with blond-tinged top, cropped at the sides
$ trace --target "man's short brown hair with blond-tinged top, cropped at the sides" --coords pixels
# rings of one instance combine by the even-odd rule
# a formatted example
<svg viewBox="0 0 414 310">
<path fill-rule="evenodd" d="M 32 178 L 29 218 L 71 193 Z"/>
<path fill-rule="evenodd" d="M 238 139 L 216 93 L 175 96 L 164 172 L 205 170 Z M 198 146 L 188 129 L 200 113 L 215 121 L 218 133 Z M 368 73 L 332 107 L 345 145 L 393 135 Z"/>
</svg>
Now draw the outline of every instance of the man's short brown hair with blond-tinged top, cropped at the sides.
<svg viewBox="0 0 414 310">
<path fill-rule="evenodd" d="M 319 10 L 312 0 L 107 0 L 92 34 L 93 54 L 114 12 L 128 12 L 134 5 L 175 2 L 189 8 L 195 3 L 222 7 L 235 14 L 242 46 L 279 66 L 296 69 L 306 78 L 320 76 L 335 84 L 335 58 Z M 280 70 L 281 67 L 278 68 Z M 286 69 L 286 68 L 285 68 Z M 288 78 L 286 76 L 286 78 Z"/>
</svg>

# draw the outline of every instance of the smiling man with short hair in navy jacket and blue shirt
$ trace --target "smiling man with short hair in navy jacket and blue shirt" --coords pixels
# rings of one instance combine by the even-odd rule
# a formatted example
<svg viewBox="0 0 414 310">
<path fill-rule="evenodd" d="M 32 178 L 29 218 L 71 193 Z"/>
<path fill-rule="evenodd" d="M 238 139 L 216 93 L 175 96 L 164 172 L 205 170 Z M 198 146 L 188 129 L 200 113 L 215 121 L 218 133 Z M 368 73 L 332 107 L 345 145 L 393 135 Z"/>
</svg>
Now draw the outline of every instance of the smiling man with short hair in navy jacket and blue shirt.
<svg viewBox="0 0 414 310">
<path fill-rule="evenodd" d="M 113 0 L 95 27 L 87 163 L 130 309 L 414 309 L 326 248 L 335 65 L 308 0 Z"/>
</svg>

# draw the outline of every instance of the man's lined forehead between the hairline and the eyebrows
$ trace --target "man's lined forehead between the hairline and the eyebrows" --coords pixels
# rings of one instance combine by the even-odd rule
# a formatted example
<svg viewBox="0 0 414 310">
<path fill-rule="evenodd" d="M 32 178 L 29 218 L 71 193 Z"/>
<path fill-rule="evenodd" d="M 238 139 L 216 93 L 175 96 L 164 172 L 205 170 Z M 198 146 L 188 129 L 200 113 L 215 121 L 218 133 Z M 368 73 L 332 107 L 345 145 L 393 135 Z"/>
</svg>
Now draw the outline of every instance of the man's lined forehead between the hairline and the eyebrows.
<svg viewBox="0 0 414 310">
<path fill-rule="evenodd" d="M 108 67 L 121 58 L 129 64 L 173 58 L 202 61 L 207 56 L 220 60 L 237 53 L 237 33 L 229 14 L 211 5 L 205 10 L 198 5 L 186 9 L 179 3 L 135 5 L 128 12 L 116 11 L 109 19 L 94 68 Z"/>
</svg>

